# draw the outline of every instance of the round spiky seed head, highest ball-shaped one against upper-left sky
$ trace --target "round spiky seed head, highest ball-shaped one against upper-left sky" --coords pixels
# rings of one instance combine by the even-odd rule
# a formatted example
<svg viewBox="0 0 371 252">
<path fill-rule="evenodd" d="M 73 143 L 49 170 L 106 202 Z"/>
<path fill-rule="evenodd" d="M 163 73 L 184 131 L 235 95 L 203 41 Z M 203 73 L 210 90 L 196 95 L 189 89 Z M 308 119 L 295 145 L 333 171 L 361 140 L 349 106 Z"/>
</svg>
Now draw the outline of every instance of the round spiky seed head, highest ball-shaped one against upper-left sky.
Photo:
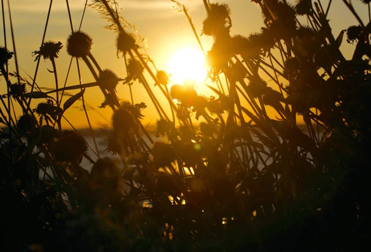
<svg viewBox="0 0 371 252">
<path fill-rule="evenodd" d="M 72 57 L 86 57 L 92 47 L 92 38 L 83 31 L 73 31 L 67 39 L 67 52 Z"/>
</svg>

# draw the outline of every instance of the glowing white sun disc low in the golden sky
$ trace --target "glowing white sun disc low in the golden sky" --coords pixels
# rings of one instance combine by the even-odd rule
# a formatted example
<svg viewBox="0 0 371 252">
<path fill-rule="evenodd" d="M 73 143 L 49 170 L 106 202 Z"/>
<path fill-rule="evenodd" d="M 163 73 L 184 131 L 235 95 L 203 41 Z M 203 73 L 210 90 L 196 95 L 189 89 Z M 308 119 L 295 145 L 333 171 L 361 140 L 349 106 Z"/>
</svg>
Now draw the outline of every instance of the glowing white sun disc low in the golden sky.
<svg viewBox="0 0 371 252">
<path fill-rule="evenodd" d="M 204 55 L 201 50 L 184 48 L 171 59 L 171 78 L 177 84 L 183 84 L 185 79 L 203 81 L 206 78 L 204 64 Z"/>
</svg>

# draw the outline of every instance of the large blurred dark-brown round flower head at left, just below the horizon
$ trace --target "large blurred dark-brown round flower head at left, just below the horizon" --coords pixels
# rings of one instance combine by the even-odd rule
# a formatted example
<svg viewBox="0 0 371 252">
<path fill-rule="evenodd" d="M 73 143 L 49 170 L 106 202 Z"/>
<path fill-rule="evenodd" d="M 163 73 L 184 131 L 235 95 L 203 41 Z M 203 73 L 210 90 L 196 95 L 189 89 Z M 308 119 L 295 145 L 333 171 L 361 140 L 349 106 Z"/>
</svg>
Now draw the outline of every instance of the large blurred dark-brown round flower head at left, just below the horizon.
<svg viewBox="0 0 371 252">
<path fill-rule="evenodd" d="M 82 137 L 73 131 L 65 130 L 55 142 L 54 157 L 56 161 L 78 165 L 86 150 L 87 146 Z"/>
</svg>

